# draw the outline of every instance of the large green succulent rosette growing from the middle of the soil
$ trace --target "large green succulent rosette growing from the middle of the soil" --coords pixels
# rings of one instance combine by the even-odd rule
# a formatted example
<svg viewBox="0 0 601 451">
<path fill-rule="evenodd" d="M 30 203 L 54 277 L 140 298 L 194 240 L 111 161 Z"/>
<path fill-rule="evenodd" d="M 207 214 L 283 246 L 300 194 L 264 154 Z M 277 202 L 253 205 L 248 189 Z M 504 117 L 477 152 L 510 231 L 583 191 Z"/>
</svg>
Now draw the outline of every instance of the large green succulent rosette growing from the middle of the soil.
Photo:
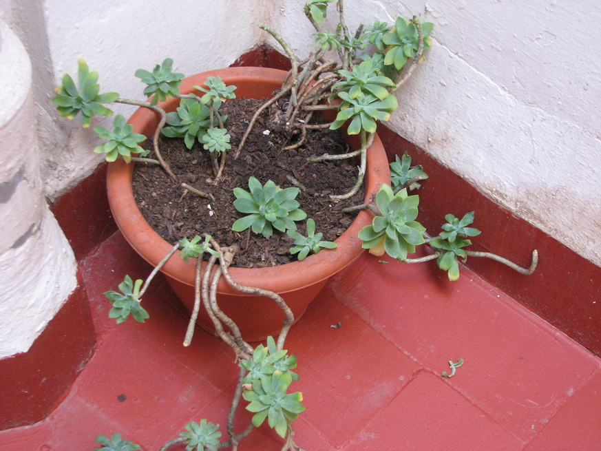
<svg viewBox="0 0 601 451">
<path fill-rule="evenodd" d="M 272 180 L 261 185 L 259 180 L 251 177 L 249 189 L 250 192 L 242 188 L 233 189 L 235 209 L 240 213 L 250 213 L 233 223 L 233 231 L 242 232 L 251 227 L 253 232 L 262 233 L 268 238 L 273 234 L 274 228 L 282 232 L 296 230 L 295 221 L 302 221 L 307 217 L 295 200 L 300 191 L 298 188 L 281 189 Z"/>
</svg>

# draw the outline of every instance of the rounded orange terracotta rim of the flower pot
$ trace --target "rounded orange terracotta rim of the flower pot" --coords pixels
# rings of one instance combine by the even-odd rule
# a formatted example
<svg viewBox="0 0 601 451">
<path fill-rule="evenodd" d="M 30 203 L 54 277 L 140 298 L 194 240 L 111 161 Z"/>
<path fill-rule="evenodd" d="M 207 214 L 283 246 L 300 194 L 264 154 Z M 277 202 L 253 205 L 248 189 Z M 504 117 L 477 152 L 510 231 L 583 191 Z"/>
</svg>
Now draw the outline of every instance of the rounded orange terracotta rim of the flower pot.
<svg viewBox="0 0 601 451">
<path fill-rule="evenodd" d="M 220 76 L 228 85 L 240 86 L 240 83 L 257 83 L 257 77 L 260 77 L 264 83 L 275 83 L 280 86 L 286 73 L 284 70 L 266 67 L 229 67 L 222 70 L 211 70 L 184 78 L 180 85 L 180 92 L 184 94 L 191 92 L 194 85 L 202 85 L 209 76 Z M 165 102 L 159 102 L 158 105 L 169 111 L 175 109 L 178 101 L 178 98 L 170 98 Z M 158 122 L 157 115 L 150 109 L 140 107 L 129 118 L 128 123 L 134 125 L 134 132 L 140 133 L 144 127 L 147 127 L 149 121 Z M 381 148 L 379 152 L 375 151 L 378 147 Z M 163 240 L 140 213 L 131 187 L 133 171 L 134 164 L 127 164 L 122 159 L 109 163 L 107 171 L 109 204 L 118 228 L 127 242 L 144 260 L 152 266 L 156 266 L 167 255 L 173 244 Z M 390 170 L 386 152 L 383 151 L 381 140 L 376 134 L 367 154 L 367 170 L 364 180 L 366 196 L 363 202 L 371 202 L 384 182 L 390 184 Z M 363 251 L 361 240 L 358 238 L 359 231 L 370 223 L 370 213 L 365 210 L 359 211 L 350 227 L 335 240 L 338 244 L 336 249 L 322 249 L 319 253 L 309 255 L 304 260 L 280 266 L 251 269 L 232 267 L 229 272 L 233 280 L 246 286 L 256 286 L 276 293 L 301 289 L 304 286 L 321 282 L 355 260 Z M 196 262 L 196 258 L 184 262 L 176 253 L 162 267 L 161 271 L 184 284 L 193 285 Z M 219 282 L 218 293 L 242 295 L 232 289 L 224 280 Z"/>
</svg>

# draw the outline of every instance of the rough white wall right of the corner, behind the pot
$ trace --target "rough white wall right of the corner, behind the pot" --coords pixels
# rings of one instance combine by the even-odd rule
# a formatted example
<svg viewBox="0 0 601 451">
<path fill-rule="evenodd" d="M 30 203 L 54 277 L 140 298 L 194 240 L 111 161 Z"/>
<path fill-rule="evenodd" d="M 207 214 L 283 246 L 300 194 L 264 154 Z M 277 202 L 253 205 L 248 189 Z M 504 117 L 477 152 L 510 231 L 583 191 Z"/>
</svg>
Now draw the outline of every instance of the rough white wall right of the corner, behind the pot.
<svg viewBox="0 0 601 451">
<path fill-rule="evenodd" d="M 281 1 L 271 17 L 301 55 L 312 32 L 303 3 Z M 388 125 L 601 265 L 601 3 L 347 0 L 345 7 L 351 30 L 399 15 L 435 24 L 432 49 L 399 90 Z M 333 16 L 330 7 L 330 23 Z"/>
</svg>

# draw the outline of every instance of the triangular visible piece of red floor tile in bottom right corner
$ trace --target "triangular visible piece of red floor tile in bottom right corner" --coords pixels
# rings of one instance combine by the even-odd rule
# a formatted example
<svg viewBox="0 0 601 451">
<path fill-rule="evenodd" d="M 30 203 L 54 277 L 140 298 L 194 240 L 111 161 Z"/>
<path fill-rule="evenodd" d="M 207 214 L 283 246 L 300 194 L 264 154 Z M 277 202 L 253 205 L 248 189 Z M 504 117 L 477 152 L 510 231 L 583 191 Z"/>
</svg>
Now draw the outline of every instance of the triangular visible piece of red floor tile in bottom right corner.
<svg viewBox="0 0 601 451">
<path fill-rule="evenodd" d="M 526 451 L 601 450 L 601 373 L 570 395 Z"/>
</svg>

